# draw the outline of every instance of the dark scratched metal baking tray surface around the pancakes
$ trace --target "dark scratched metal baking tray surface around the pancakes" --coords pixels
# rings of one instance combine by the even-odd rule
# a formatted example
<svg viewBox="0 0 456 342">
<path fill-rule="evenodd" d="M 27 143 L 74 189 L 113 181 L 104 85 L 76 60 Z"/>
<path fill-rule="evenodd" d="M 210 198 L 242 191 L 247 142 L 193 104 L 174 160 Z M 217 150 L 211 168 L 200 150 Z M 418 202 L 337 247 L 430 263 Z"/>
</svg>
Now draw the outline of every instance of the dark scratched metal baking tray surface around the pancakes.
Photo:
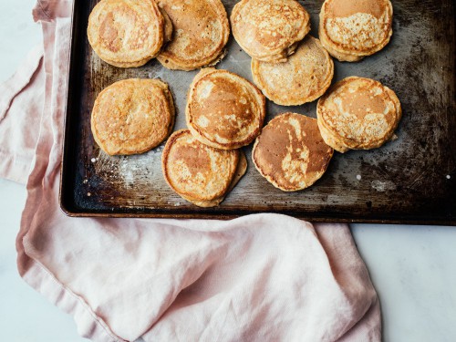
<svg viewBox="0 0 456 342">
<path fill-rule="evenodd" d="M 235 1 L 223 1 L 230 14 Z M 317 36 L 323 1 L 302 2 Z M 171 191 L 161 174 L 161 150 L 109 157 L 90 133 L 89 117 L 101 89 L 124 78 L 162 78 L 176 108 L 174 130 L 185 127 L 186 92 L 196 71 L 170 71 L 156 60 L 139 68 L 110 67 L 92 53 L 86 38 L 88 5 L 74 13 L 61 204 L 76 216 L 228 218 L 252 212 L 282 212 L 313 221 L 456 224 L 456 113 L 454 2 L 393 1 L 394 35 L 388 47 L 358 63 L 336 61 L 334 81 L 347 76 L 375 78 L 396 91 L 403 108 L 398 140 L 378 150 L 336 153 L 324 177 L 303 192 L 276 190 L 249 169 L 216 208 L 202 209 Z M 252 79 L 250 57 L 230 40 L 217 66 Z M 268 116 L 295 111 L 316 117 L 316 102 L 280 107 Z"/>
</svg>

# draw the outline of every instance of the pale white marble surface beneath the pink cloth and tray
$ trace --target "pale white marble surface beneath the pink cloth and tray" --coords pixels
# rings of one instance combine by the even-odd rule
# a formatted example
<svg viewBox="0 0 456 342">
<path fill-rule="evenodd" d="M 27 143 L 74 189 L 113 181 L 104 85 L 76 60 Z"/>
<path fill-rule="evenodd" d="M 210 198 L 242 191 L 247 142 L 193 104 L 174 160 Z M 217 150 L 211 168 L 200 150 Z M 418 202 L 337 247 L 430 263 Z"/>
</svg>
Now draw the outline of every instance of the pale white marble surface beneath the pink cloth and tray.
<svg viewBox="0 0 456 342">
<path fill-rule="evenodd" d="M 40 41 L 30 15 L 34 3 L 0 0 L 0 81 Z M 17 274 L 25 201 L 24 185 L 0 180 L 0 340 L 83 341 L 72 318 Z M 456 341 L 456 227 L 355 224 L 352 231 L 378 290 L 384 340 Z"/>
</svg>

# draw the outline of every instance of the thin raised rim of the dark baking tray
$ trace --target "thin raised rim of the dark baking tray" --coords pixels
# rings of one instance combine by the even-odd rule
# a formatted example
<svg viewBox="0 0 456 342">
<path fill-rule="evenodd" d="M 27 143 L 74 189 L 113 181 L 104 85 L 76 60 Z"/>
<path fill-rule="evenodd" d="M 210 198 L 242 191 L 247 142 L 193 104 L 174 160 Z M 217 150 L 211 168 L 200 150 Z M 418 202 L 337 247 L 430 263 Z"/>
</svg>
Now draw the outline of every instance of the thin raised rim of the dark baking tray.
<svg viewBox="0 0 456 342">
<path fill-rule="evenodd" d="M 339 214 L 338 217 L 334 217 L 334 215 L 322 215 L 319 214 L 318 216 L 310 216 L 308 213 L 306 214 L 299 214 L 292 211 L 237 211 L 236 213 L 232 212 L 213 212 L 213 213 L 204 213 L 204 212 L 192 212 L 192 213 L 175 213 L 175 212 L 133 212 L 132 210 L 125 210 L 122 211 L 118 208 L 118 212 L 115 211 L 98 211 L 98 212 L 90 212 L 90 211 L 78 211 L 71 209 L 69 205 L 64 201 L 64 192 L 65 192 L 65 165 L 66 161 L 69 158 L 67 151 L 67 130 L 68 129 L 68 111 L 69 104 L 71 101 L 70 94 L 70 80 L 75 73 L 75 58 L 73 56 L 76 54 L 76 50 L 78 45 L 76 44 L 76 37 L 75 37 L 75 27 L 78 26 L 78 20 L 75 18 L 76 7 L 77 7 L 78 0 L 75 0 L 72 4 L 71 9 L 71 31 L 70 31 L 70 49 L 69 49 L 69 67 L 68 67 L 68 75 L 67 75 L 67 93 L 66 97 L 64 98 L 66 106 L 65 106 L 65 114 L 63 120 L 63 135 L 62 135 L 62 146 L 61 146 L 61 162 L 60 162 L 60 183 L 59 183 L 59 191 L 58 191 L 58 202 L 60 210 L 67 215 L 68 217 L 93 217 L 93 218 L 155 218 L 155 219 L 204 219 L 204 220 L 232 220 L 238 217 L 242 217 L 244 215 L 249 214 L 260 214 L 260 213 L 276 213 L 276 214 L 284 214 L 290 215 L 300 220 L 311 221 L 313 223 L 377 223 L 377 224 L 413 224 L 413 225 L 435 225 L 435 226 L 456 226 L 456 215 L 449 218 L 445 215 L 435 216 L 431 219 L 424 218 L 424 219 L 416 219 L 407 215 L 400 217 L 398 215 L 396 218 L 378 218 L 378 214 L 373 218 L 368 218 L 366 216 L 362 216 L 359 214 L 350 214 L 350 218 L 345 217 L 348 216 L 346 214 Z M 453 4 L 452 12 L 456 12 L 455 4 Z M 452 38 L 452 48 L 453 48 L 453 71 L 456 72 L 456 20 L 452 22 L 451 26 L 451 38 Z M 454 115 L 456 115 L 456 76 L 453 75 L 453 81 L 455 83 L 455 91 L 453 94 L 453 101 L 449 108 L 450 111 Z"/>
</svg>

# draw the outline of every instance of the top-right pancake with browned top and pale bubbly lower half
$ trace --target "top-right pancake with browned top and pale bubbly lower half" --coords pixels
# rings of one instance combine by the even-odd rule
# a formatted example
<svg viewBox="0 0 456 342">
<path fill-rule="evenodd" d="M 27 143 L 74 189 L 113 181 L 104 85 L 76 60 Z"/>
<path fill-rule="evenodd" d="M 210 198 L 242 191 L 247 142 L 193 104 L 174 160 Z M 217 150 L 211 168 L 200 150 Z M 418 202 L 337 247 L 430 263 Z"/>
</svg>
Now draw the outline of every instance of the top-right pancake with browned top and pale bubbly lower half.
<svg viewBox="0 0 456 342">
<path fill-rule="evenodd" d="M 319 36 L 331 56 L 355 62 L 389 43 L 393 7 L 389 0 L 326 0 Z"/>
</svg>

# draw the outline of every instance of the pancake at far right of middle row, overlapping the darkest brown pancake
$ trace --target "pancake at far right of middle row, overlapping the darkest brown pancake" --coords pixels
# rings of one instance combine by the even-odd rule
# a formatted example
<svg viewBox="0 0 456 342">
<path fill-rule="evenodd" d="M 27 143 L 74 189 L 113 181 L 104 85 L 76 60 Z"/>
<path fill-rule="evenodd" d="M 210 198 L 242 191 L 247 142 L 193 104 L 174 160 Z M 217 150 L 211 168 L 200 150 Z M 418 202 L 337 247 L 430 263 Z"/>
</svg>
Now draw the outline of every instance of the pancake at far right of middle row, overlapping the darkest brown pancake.
<svg viewBox="0 0 456 342">
<path fill-rule="evenodd" d="M 339 152 L 375 149 L 391 140 L 402 116 L 399 98 L 374 79 L 345 78 L 318 100 L 318 126 Z"/>
</svg>

